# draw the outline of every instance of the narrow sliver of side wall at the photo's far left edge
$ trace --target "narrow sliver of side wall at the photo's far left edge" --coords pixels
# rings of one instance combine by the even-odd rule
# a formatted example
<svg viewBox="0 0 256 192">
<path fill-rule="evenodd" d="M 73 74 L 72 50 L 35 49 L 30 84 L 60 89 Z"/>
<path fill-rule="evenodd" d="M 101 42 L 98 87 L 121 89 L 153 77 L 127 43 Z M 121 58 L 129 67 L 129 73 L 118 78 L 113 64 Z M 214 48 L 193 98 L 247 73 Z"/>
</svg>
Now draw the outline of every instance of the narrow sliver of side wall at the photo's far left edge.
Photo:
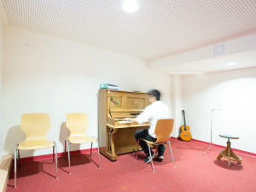
<svg viewBox="0 0 256 192">
<path fill-rule="evenodd" d="M 3 25 L 0 20 L 0 160 L 3 155 L 3 124 L 2 124 L 2 66 L 3 66 Z"/>
</svg>

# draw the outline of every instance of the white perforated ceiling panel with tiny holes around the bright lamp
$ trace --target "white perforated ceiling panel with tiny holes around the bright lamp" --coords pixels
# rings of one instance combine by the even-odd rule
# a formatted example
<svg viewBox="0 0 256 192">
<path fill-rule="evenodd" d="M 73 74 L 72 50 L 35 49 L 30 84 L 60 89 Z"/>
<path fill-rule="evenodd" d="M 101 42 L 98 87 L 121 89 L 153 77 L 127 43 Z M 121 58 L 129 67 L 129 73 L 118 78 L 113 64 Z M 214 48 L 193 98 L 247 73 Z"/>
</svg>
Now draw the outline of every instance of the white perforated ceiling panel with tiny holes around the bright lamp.
<svg viewBox="0 0 256 192">
<path fill-rule="evenodd" d="M 144 60 L 256 32 L 255 0 L 3 0 L 6 25 Z"/>
</svg>

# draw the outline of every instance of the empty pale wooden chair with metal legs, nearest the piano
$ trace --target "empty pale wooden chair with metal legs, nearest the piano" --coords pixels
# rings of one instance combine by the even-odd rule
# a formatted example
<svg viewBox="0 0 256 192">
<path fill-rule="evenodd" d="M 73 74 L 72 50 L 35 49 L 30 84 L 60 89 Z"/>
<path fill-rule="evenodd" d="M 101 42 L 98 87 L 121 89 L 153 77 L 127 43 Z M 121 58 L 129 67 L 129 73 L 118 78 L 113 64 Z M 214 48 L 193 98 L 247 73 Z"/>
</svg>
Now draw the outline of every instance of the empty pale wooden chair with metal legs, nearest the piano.
<svg viewBox="0 0 256 192">
<path fill-rule="evenodd" d="M 98 143 L 98 158 L 99 158 L 99 168 L 100 166 L 100 151 L 99 151 L 99 142 L 96 137 L 87 136 L 85 131 L 88 127 L 88 117 L 86 113 L 67 113 L 66 116 L 66 126 L 70 131 L 70 137 L 65 139 L 65 160 L 66 160 L 66 143 L 67 143 L 67 153 L 68 153 L 68 166 L 69 174 L 70 171 L 70 152 L 69 152 L 69 143 L 81 144 L 81 143 L 91 143 L 90 144 L 90 156 L 92 143 Z"/>
</svg>

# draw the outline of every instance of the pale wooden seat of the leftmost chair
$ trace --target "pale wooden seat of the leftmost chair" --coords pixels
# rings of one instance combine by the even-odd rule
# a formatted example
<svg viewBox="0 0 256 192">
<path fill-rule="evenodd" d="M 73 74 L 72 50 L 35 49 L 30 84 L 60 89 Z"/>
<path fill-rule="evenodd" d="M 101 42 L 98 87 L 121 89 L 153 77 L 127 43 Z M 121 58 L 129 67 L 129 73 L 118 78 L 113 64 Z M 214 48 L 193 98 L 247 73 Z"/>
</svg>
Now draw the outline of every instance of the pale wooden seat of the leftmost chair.
<svg viewBox="0 0 256 192">
<path fill-rule="evenodd" d="M 49 139 L 37 139 L 37 140 L 26 140 L 19 144 L 18 149 L 20 150 L 31 150 L 39 148 L 50 148 L 53 147 L 55 143 Z"/>
</svg>

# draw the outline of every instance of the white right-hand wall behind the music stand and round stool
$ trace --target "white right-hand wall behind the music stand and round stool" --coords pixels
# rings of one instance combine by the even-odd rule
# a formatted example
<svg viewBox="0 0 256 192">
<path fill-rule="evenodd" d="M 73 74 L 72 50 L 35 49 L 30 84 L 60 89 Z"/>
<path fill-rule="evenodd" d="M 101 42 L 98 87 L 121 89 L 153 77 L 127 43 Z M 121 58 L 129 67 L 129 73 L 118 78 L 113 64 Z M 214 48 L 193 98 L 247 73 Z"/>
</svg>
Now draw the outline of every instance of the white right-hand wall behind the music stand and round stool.
<svg viewBox="0 0 256 192">
<path fill-rule="evenodd" d="M 256 67 L 183 77 L 183 104 L 192 137 L 226 146 L 220 133 L 240 136 L 231 148 L 256 153 Z"/>
</svg>

